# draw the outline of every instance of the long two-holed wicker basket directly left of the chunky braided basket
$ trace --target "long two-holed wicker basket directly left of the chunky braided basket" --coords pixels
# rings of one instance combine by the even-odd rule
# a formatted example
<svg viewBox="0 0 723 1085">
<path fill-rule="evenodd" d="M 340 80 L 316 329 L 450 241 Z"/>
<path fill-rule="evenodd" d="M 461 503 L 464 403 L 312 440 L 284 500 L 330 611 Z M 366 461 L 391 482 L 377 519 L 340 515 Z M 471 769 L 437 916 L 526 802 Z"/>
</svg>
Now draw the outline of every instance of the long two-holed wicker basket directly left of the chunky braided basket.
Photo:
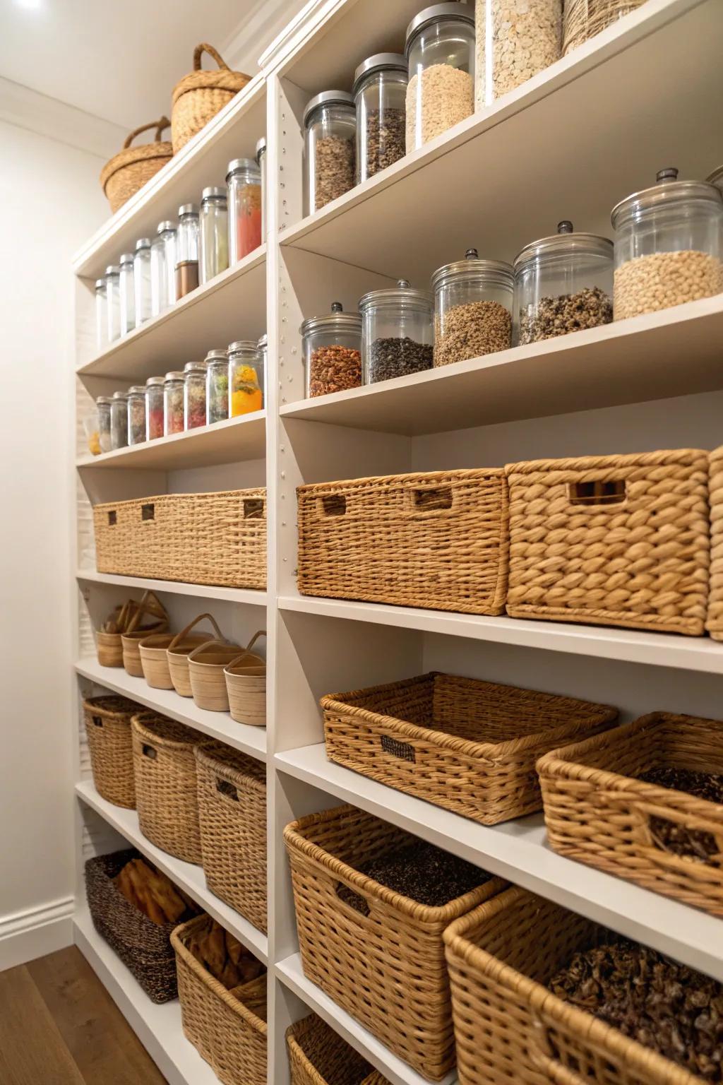
<svg viewBox="0 0 723 1085">
<path fill-rule="evenodd" d="M 302 595 L 503 612 L 503 471 L 387 475 L 300 486 L 297 493 Z"/>
</svg>

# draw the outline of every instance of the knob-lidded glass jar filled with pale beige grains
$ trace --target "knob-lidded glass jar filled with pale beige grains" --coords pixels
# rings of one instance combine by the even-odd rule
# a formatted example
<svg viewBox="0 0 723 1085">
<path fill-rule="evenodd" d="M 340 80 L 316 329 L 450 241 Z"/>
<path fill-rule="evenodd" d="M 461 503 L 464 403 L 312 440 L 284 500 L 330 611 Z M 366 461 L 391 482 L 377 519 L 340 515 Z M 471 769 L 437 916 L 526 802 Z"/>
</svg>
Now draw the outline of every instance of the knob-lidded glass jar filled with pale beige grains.
<svg viewBox="0 0 723 1085">
<path fill-rule="evenodd" d="M 612 209 L 616 320 L 723 291 L 721 190 L 676 169 L 656 179 Z"/>
</svg>

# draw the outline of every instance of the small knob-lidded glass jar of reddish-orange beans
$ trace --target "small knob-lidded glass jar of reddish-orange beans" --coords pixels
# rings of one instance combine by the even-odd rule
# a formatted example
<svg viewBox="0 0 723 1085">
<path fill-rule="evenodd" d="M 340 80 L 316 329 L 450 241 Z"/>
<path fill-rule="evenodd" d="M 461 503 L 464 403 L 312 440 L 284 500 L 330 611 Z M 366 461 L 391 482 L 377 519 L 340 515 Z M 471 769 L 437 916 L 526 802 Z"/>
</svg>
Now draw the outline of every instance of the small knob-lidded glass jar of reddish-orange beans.
<svg viewBox="0 0 723 1085">
<path fill-rule="evenodd" d="M 358 388 L 362 382 L 361 317 L 344 312 L 340 302 L 327 316 L 312 317 L 301 324 L 307 396 Z"/>
</svg>

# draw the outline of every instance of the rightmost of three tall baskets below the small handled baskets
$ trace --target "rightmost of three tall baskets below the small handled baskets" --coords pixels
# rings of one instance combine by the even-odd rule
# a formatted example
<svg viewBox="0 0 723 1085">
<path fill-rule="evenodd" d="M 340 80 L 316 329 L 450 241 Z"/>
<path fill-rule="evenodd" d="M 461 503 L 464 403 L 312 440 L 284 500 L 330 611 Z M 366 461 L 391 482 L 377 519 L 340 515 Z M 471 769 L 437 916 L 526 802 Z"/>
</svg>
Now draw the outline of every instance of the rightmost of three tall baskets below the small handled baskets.
<svg viewBox="0 0 723 1085">
<path fill-rule="evenodd" d="M 196 780 L 208 888 L 266 934 L 266 768 L 214 742 L 196 749 Z"/>
</svg>

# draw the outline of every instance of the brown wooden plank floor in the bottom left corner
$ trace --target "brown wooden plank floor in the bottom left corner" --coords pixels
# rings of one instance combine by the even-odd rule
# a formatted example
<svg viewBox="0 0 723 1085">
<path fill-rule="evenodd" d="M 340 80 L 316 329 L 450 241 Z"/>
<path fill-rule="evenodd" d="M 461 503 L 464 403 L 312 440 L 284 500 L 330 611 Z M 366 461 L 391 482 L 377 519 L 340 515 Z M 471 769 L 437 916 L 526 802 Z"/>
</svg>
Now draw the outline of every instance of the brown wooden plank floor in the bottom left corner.
<svg viewBox="0 0 723 1085">
<path fill-rule="evenodd" d="M 165 1085 L 75 946 L 0 972 L 0 1085 Z"/>
</svg>

